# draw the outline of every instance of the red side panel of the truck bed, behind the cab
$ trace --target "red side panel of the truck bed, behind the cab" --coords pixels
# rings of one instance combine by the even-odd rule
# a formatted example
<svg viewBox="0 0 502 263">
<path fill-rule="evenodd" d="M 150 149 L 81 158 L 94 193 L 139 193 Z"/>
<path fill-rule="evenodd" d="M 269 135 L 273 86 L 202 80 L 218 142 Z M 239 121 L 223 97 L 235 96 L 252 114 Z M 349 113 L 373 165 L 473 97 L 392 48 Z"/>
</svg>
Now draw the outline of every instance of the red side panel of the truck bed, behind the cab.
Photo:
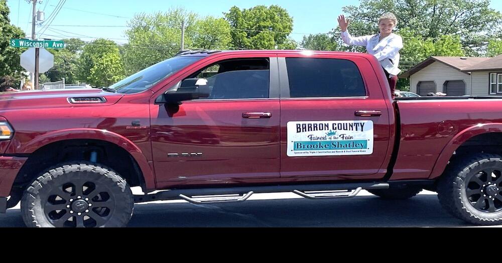
<svg viewBox="0 0 502 263">
<path fill-rule="evenodd" d="M 500 102 L 500 99 L 474 98 L 398 101 L 401 138 L 391 180 L 441 175 L 455 149 L 466 140 L 484 132 L 501 132 Z M 491 128 L 470 132 L 486 125 Z M 462 139 L 458 140 L 461 134 Z M 495 143 L 498 136 L 492 136 Z"/>
</svg>

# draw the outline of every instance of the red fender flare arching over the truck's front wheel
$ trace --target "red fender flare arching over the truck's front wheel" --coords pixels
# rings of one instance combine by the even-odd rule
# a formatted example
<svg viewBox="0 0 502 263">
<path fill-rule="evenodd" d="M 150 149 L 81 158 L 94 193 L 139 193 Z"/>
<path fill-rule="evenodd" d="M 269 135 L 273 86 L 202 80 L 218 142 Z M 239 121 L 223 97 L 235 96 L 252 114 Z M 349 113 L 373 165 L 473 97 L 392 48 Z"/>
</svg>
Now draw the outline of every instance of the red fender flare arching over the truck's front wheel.
<svg viewBox="0 0 502 263">
<path fill-rule="evenodd" d="M 51 143 L 75 139 L 106 141 L 126 150 L 138 163 L 147 189 L 155 189 L 155 175 L 143 151 L 128 138 L 114 132 L 92 128 L 65 129 L 48 132 L 24 144 L 17 144 L 13 141 L 14 143 L 11 143 L 10 147 L 12 147 L 12 153 L 30 154 Z"/>
</svg>

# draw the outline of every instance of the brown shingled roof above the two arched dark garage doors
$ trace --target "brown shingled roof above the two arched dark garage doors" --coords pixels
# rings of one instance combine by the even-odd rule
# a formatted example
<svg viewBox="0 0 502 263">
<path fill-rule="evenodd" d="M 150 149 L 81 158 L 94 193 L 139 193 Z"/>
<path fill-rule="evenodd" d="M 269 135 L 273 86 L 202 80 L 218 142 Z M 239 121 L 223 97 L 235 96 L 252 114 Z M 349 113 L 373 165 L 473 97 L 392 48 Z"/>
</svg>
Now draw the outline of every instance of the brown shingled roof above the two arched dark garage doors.
<svg viewBox="0 0 502 263">
<path fill-rule="evenodd" d="M 425 67 L 431 65 L 434 62 L 440 62 L 443 63 L 446 66 L 452 67 L 458 71 L 464 72 L 467 74 L 467 72 L 471 71 L 479 71 L 479 70 L 471 70 L 471 69 L 477 69 L 481 66 L 484 65 L 487 62 L 490 62 L 493 59 L 499 58 L 502 56 L 498 56 L 495 58 L 478 58 L 478 57 L 471 57 L 471 58 L 466 58 L 466 57 L 430 57 L 423 61 L 422 63 L 418 64 L 417 66 L 409 69 L 405 73 L 401 74 L 399 78 L 406 79 L 409 78 L 411 75 L 419 72 L 420 70 L 424 69 Z M 502 69 L 502 58 L 500 58 L 496 63 L 489 63 L 491 66 L 493 65 L 498 65 L 498 69 Z M 480 69 L 481 70 L 481 69 Z M 489 69 L 491 70 L 491 69 Z M 482 71 L 482 70 L 481 70 Z"/>
</svg>

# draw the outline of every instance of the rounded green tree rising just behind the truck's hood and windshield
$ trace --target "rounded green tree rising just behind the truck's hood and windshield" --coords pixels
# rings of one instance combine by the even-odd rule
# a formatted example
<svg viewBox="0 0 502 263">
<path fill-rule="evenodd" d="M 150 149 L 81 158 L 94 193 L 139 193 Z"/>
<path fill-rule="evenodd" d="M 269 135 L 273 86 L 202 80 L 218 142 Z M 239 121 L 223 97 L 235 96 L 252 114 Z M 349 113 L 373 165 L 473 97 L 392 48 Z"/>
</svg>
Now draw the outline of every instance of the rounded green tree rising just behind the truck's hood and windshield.
<svg viewBox="0 0 502 263">
<path fill-rule="evenodd" d="M 110 86 L 123 79 L 124 70 L 117 44 L 97 39 L 86 45 L 78 60 L 77 78 L 94 87 Z"/>
</svg>

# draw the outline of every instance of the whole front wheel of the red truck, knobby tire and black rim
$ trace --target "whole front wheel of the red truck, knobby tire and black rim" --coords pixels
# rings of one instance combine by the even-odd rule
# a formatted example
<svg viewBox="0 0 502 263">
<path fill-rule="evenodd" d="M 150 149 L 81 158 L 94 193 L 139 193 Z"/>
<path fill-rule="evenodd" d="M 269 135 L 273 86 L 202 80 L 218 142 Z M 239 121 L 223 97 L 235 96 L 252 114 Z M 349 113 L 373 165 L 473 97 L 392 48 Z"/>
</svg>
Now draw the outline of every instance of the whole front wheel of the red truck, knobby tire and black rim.
<svg viewBox="0 0 502 263">
<path fill-rule="evenodd" d="M 133 209 L 126 180 L 109 168 L 86 162 L 48 169 L 27 187 L 21 200 L 29 227 L 123 227 Z"/>
</svg>

